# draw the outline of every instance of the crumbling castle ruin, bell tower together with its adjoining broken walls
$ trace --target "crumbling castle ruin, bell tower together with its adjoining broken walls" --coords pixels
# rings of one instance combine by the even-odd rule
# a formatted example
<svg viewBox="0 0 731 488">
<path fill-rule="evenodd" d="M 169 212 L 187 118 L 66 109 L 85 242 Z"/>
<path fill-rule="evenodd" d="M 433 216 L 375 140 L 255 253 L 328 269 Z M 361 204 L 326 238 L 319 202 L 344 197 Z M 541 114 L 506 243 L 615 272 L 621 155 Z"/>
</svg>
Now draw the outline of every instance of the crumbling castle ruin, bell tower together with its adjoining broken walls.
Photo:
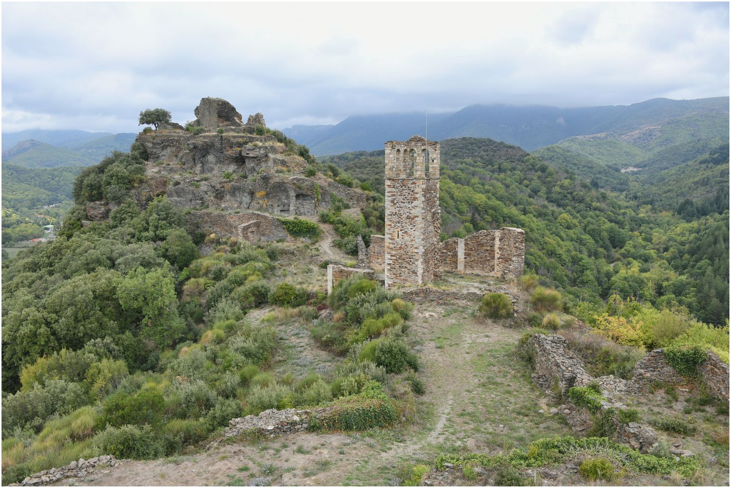
<svg viewBox="0 0 731 488">
<path fill-rule="evenodd" d="M 501 227 L 439 241 L 439 142 L 415 135 L 385 146 L 385 235 L 372 235 L 367 250 L 359 247 L 358 268 L 383 272 L 387 287 L 420 286 L 442 272 L 500 279 L 523 274 L 523 229 Z M 328 291 L 358 268 L 328 270 Z"/>
</svg>

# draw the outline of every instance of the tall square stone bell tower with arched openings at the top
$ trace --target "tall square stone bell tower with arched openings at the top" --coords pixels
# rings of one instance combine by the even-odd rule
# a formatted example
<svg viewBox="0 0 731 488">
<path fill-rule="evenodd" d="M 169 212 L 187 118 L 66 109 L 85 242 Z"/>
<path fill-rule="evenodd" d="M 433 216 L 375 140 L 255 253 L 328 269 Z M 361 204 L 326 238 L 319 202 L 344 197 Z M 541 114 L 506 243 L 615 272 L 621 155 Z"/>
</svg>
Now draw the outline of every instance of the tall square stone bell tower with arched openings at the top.
<svg viewBox="0 0 731 488">
<path fill-rule="evenodd" d="M 386 142 L 385 285 L 419 286 L 439 275 L 439 142 Z"/>
</svg>

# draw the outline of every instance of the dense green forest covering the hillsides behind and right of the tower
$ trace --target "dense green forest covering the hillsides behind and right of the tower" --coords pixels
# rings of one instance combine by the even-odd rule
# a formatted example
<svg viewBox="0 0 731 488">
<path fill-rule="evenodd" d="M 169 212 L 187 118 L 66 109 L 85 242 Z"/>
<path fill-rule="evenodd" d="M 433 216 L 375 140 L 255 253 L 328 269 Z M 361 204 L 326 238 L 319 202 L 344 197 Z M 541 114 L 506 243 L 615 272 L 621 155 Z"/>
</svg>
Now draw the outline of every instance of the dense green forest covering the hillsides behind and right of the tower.
<svg viewBox="0 0 731 488">
<path fill-rule="evenodd" d="M 380 190 L 382 158 L 383 151 L 372 151 L 322 161 Z M 656 308 L 681 305 L 702 321 L 722 324 L 729 309 L 728 146 L 687 164 L 667 170 L 678 172 L 665 177 L 679 178 L 673 185 L 640 180 L 633 198 L 601 190 L 596 182 L 515 146 L 445 140 L 439 195 L 443 237 L 499 226 L 525 229 L 527 269 L 565 291 L 584 316 L 618 294 Z M 678 202 L 701 197 L 698 184 L 680 178 L 685 172 L 706 188 L 692 204 L 701 211 L 684 210 L 691 207 L 687 203 L 673 208 L 667 197 L 674 193 Z"/>
</svg>

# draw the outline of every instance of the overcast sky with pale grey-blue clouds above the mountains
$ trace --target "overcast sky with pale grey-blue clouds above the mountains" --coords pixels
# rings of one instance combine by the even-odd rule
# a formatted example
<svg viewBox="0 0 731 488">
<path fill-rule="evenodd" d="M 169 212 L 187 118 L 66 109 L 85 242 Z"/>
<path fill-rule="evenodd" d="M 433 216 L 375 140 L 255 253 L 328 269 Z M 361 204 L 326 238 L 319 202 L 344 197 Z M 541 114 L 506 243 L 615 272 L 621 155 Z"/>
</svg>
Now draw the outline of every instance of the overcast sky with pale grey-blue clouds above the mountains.
<svg viewBox="0 0 731 488">
<path fill-rule="evenodd" d="M 2 131 L 137 131 L 219 96 L 268 126 L 729 94 L 717 4 L 2 4 Z"/>
</svg>

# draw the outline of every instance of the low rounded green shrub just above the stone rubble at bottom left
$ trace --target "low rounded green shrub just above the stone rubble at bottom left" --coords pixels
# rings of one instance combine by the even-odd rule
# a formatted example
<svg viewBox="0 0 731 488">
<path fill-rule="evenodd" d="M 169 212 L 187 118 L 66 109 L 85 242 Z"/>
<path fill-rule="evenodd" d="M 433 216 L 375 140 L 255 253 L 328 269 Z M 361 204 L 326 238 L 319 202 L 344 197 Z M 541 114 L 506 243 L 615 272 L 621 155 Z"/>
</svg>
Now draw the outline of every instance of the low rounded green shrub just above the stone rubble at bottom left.
<svg viewBox="0 0 731 488">
<path fill-rule="evenodd" d="M 92 451 L 98 456 L 112 454 L 117 459 L 151 460 L 163 454 L 162 442 L 156 438 L 152 427 L 123 425 L 107 427 L 92 443 Z"/>
</svg>

